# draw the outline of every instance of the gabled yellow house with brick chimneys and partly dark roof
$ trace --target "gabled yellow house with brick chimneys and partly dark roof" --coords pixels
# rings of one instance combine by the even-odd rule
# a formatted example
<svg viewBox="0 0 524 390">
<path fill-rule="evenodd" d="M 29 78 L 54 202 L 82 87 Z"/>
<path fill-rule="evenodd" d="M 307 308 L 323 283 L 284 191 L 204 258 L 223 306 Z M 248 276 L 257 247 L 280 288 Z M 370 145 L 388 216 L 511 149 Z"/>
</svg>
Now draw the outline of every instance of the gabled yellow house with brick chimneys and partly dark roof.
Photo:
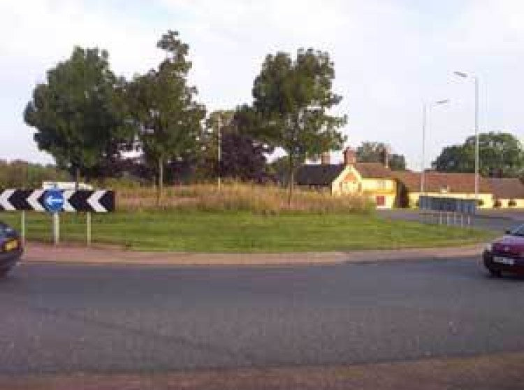
<svg viewBox="0 0 524 390">
<path fill-rule="evenodd" d="M 296 184 L 324 189 L 335 196 L 369 196 L 377 208 L 393 208 L 397 196 L 397 185 L 387 161 L 386 164 L 358 163 L 351 148 L 344 150 L 343 164 L 330 164 L 324 155 L 321 164 L 301 166 L 296 173 Z"/>
</svg>

